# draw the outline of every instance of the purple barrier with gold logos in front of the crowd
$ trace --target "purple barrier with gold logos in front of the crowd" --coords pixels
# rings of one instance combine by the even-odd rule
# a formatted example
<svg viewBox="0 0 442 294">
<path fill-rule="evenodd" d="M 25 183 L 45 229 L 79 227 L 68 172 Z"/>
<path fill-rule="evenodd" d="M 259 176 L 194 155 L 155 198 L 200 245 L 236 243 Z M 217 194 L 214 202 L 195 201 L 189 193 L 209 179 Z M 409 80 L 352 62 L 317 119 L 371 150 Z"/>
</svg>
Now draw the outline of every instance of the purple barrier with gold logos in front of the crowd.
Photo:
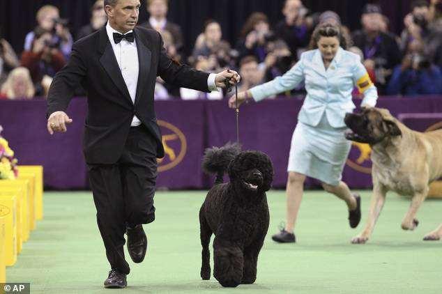
<svg viewBox="0 0 442 294">
<path fill-rule="evenodd" d="M 238 114 L 239 139 L 243 150 L 267 153 L 275 166 L 273 187 L 285 187 L 287 159 L 296 116 L 303 103 L 297 98 L 279 98 L 241 106 Z M 359 105 L 360 100 L 355 100 Z M 420 114 L 406 121 L 409 127 L 426 130 L 435 124 L 434 115 L 442 113 L 442 97 L 379 98 L 378 107 L 399 114 Z M 156 102 L 158 123 L 162 128 L 166 156 L 158 164 L 158 187 L 167 189 L 207 189 L 213 177 L 201 172 L 204 148 L 236 141 L 236 112 L 227 101 Z M 45 100 L 0 100 L 1 135 L 5 137 L 22 165 L 43 165 L 45 187 L 51 189 L 88 189 L 86 165 L 82 154 L 82 130 L 86 98 L 74 98 L 67 113 L 73 118 L 68 132 L 49 135 L 46 128 Z M 425 119 L 428 117 L 428 119 Z M 431 118 L 431 119 L 429 119 Z M 371 163 L 367 146 L 354 145 L 344 168 L 343 180 L 352 188 L 371 187 Z M 307 187 L 317 187 L 308 179 Z"/>
</svg>

